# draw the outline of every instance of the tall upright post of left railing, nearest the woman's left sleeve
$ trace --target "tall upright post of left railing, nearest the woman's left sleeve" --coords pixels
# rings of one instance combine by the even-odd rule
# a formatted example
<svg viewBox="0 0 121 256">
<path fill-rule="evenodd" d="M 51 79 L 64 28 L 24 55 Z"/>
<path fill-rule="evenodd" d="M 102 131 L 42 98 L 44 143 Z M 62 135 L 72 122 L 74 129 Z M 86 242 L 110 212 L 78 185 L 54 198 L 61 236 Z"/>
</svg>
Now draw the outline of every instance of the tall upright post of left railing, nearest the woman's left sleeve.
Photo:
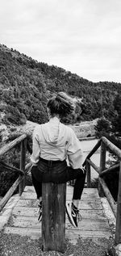
<svg viewBox="0 0 121 256">
<path fill-rule="evenodd" d="M 27 139 L 21 141 L 21 156 L 20 156 L 20 169 L 25 171 L 25 162 L 26 162 L 26 149 L 27 149 Z M 19 195 L 23 193 L 25 187 L 25 176 L 23 181 L 19 184 Z"/>
</svg>

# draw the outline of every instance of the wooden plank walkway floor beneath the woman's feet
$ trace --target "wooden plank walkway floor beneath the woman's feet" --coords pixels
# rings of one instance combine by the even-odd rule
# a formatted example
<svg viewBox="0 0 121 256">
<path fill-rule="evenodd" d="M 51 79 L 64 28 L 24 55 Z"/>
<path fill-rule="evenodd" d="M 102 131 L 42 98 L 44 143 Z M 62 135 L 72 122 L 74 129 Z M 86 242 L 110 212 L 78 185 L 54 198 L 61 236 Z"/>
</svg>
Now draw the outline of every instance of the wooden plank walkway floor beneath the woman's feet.
<svg viewBox="0 0 121 256">
<path fill-rule="evenodd" d="M 73 187 L 67 186 L 66 200 L 71 201 Z M 66 215 L 65 236 L 76 243 L 78 237 L 111 237 L 111 229 L 104 215 L 101 200 L 96 188 L 84 188 L 79 204 L 82 216 L 78 227 L 74 228 Z M 25 187 L 18 203 L 13 209 L 10 220 L 4 227 L 4 233 L 16 233 L 38 239 L 41 237 L 41 224 L 38 222 L 38 200 L 34 187 Z"/>
</svg>

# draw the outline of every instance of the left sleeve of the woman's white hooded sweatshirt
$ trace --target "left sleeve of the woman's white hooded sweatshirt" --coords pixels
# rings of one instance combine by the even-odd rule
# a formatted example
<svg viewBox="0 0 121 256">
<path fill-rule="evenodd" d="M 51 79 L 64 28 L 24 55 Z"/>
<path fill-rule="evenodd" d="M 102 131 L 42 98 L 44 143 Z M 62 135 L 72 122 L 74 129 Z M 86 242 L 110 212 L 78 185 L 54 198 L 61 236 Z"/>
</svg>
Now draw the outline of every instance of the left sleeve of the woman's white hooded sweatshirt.
<svg viewBox="0 0 121 256">
<path fill-rule="evenodd" d="M 32 154 L 31 154 L 31 162 L 33 166 L 37 165 L 37 162 L 40 160 L 40 145 L 37 136 L 37 128 L 35 128 L 32 136 Z"/>
</svg>

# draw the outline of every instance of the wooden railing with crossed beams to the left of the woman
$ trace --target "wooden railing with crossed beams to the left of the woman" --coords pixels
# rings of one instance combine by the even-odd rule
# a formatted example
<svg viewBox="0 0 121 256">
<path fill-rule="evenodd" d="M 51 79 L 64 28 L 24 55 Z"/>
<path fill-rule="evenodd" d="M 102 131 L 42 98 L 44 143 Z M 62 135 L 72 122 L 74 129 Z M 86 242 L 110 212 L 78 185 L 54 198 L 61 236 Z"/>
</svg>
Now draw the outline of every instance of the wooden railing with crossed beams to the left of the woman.
<svg viewBox="0 0 121 256">
<path fill-rule="evenodd" d="M 10 149 L 15 148 L 17 145 L 20 145 L 21 151 L 19 169 L 16 168 L 15 166 L 10 166 L 9 164 L 6 164 L 5 162 L 2 162 L 0 160 L 0 171 L 2 169 L 6 169 L 8 170 L 8 172 L 12 170 L 13 172 L 19 173 L 19 177 L 15 180 L 15 183 L 13 183 L 9 191 L 6 192 L 6 195 L 4 195 L 0 202 L 0 212 L 2 211 L 2 208 L 5 206 L 6 202 L 10 199 L 11 195 L 14 194 L 17 187 L 19 187 L 19 195 L 23 193 L 23 189 L 25 187 L 25 178 L 28 172 L 28 168 L 31 166 L 31 163 L 28 163 L 26 165 L 26 152 L 28 150 L 29 153 L 31 153 L 31 148 L 28 145 L 26 134 L 23 134 L 22 136 L 16 138 L 14 141 L 11 141 L 10 143 L 4 145 L 2 149 L 0 149 L 0 159 L 3 156 L 3 154 L 10 151 Z"/>
</svg>

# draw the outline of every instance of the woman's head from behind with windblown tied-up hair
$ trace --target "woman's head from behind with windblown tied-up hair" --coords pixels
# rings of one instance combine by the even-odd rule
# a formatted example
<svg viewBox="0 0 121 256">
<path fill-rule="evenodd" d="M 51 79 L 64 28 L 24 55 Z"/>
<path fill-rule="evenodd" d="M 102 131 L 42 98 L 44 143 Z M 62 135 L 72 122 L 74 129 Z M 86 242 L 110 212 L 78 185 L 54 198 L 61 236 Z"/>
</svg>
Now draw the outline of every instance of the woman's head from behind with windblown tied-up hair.
<svg viewBox="0 0 121 256">
<path fill-rule="evenodd" d="M 60 118 L 69 115 L 75 108 L 73 99 L 64 92 L 49 99 L 47 107 L 51 116 L 59 115 Z"/>
</svg>

